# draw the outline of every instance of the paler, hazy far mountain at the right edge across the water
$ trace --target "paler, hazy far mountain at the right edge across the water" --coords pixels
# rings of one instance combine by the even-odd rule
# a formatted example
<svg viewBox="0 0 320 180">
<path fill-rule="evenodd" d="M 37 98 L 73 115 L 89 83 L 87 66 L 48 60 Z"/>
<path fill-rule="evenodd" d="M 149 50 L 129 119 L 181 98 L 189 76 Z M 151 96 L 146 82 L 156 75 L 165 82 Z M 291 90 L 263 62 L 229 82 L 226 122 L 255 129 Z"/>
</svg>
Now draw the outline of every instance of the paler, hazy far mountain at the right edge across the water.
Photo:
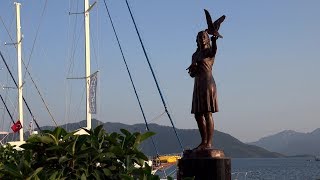
<svg viewBox="0 0 320 180">
<path fill-rule="evenodd" d="M 320 128 L 310 133 L 300 133 L 292 130 L 282 131 L 275 135 L 261 138 L 249 143 L 288 156 L 319 155 Z"/>
</svg>

